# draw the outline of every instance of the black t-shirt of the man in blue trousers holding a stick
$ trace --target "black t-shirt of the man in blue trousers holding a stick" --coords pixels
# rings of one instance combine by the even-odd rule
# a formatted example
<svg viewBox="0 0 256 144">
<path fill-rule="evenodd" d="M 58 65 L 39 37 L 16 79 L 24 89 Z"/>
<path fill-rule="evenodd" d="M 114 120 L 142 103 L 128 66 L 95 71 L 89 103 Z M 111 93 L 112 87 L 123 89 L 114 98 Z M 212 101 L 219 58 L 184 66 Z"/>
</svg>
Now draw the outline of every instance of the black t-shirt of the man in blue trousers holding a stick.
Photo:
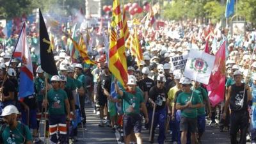
<svg viewBox="0 0 256 144">
<path fill-rule="evenodd" d="M 157 86 L 153 86 L 149 90 L 148 97 L 156 103 L 156 110 L 165 108 L 168 97 L 166 88 L 159 89 Z"/>
</svg>

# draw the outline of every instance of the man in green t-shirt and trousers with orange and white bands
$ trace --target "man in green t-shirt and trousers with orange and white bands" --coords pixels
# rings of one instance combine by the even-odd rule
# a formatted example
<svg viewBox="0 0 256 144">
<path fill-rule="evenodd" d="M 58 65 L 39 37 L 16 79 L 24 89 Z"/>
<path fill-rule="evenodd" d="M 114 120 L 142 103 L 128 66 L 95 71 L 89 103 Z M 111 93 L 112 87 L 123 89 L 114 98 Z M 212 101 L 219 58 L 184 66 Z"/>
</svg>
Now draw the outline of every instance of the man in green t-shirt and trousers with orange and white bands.
<svg viewBox="0 0 256 144">
<path fill-rule="evenodd" d="M 70 119 L 70 104 L 67 93 L 60 88 L 60 77 L 51 77 L 52 88 L 47 92 L 47 100 L 43 102 L 46 108 L 49 105 L 49 134 L 53 143 L 67 143 L 67 124 Z M 67 114 L 67 115 L 66 115 Z"/>
</svg>

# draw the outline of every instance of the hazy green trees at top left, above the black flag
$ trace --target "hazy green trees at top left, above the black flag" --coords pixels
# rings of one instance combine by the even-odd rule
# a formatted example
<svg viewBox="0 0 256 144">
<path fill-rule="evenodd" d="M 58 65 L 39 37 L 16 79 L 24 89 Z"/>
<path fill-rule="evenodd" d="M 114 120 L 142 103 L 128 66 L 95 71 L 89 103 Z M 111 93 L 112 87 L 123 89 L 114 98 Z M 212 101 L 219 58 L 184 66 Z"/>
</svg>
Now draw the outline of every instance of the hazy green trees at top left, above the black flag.
<svg viewBox="0 0 256 144">
<path fill-rule="evenodd" d="M 0 0 L 0 19 L 12 19 L 22 14 L 32 13 L 41 8 L 44 13 L 54 12 L 61 15 L 72 15 L 74 10 L 85 11 L 85 0 Z"/>
</svg>

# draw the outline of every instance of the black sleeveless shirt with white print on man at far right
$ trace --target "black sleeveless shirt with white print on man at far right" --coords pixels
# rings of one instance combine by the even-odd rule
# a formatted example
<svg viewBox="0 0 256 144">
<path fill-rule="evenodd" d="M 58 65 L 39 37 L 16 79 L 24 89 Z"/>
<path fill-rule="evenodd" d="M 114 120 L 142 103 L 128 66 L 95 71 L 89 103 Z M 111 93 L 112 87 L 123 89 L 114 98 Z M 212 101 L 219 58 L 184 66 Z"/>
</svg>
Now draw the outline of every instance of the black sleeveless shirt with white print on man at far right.
<svg viewBox="0 0 256 144">
<path fill-rule="evenodd" d="M 243 96 L 244 100 L 242 103 Z M 244 92 L 244 84 L 242 84 L 241 86 L 236 86 L 236 84 L 232 84 L 230 93 L 230 109 L 232 111 L 246 111 L 247 105 L 247 90 L 245 90 Z"/>
</svg>

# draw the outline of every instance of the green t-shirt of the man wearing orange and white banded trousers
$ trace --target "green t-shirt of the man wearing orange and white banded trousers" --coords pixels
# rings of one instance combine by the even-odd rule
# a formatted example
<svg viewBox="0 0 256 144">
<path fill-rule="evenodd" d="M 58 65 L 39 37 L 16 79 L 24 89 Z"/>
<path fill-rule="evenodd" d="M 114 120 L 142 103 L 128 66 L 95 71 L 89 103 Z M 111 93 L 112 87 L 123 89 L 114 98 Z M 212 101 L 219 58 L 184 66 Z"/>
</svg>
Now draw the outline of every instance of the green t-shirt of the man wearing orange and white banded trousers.
<svg viewBox="0 0 256 144">
<path fill-rule="evenodd" d="M 49 102 L 49 115 L 64 115 L 65 100 L 68 99 L 64 90 L 53 88 L 47 92 L 47 100 Z"/>
</svg>

